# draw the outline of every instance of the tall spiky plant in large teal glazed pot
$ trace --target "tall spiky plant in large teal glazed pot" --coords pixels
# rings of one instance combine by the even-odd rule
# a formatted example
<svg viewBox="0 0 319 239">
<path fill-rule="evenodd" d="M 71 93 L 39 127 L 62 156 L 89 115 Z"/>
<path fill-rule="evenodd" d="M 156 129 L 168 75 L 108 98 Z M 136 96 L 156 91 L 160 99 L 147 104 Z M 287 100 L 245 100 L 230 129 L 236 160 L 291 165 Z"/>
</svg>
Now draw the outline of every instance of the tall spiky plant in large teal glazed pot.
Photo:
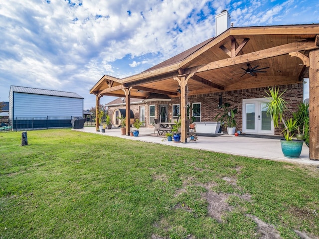
<svg viewBox="0 0 319 239">
<path fill-rule="evenodd" d="M 281 139 L 281 148 L 283 151 L 283 154 L 285 157 L 288 158 L 298 158 L 301 154 L 301 150 L 303 147 L 303 141 L 293 139 L 294 131 L 297 127 L 297 120 L 290 118 L 285 119 L 285 112 L 287 109 L 287 102 L 283 99 L 283 94 L 286 92 L 286 90 L 283 91 L 283 93 L 279 93 L 279 87 L 274 88 L 268 88 L 269 93 L 265 90 L 267 93 L 266 98 L 269 100 L 269 102 L 266 104 L 267 107 L 267 115 L 271 117 L 271 119 L 274 122 L 274 126 L 279 126 L 279 121 L 281 121 L 284 124 L 285 129 L 284 132 L 284 139 Z"/>
</svg>

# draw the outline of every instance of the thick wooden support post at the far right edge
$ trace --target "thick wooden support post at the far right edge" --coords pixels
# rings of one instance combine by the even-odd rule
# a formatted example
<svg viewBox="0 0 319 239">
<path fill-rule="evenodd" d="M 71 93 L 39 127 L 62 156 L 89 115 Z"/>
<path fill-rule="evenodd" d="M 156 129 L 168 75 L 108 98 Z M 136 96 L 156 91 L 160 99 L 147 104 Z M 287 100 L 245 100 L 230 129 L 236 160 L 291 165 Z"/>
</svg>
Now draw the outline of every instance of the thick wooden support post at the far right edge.
<svg viewBox="0 0 319 239">
<path fill-rule="evenodd" d="M 309 53 L 309 157 L 319 160 L 319 50 Z"/>
</svg>

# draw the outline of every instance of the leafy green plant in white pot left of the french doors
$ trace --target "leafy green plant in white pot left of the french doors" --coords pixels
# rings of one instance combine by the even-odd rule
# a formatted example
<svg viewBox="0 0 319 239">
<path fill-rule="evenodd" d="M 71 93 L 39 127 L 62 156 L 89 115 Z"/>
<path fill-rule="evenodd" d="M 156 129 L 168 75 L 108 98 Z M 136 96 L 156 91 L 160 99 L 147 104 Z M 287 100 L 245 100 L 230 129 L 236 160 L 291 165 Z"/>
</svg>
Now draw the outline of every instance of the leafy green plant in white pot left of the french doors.
<svg viewBox="0 0 319 239">
<path fill-rule="evenodd" d="M 221 124 L 226 125 L 227 132 L 229 135 L 235 135 L 236 131 L 236 120 L 235 115 L 237 114 L 238 109 L 230 109 L 230 103 L 225 103 L 221 107 L 219 106 L 218 109 L 223 109 L 223 113 L 218 113 L 215 117 L 218 122 Z"/>
</svg>

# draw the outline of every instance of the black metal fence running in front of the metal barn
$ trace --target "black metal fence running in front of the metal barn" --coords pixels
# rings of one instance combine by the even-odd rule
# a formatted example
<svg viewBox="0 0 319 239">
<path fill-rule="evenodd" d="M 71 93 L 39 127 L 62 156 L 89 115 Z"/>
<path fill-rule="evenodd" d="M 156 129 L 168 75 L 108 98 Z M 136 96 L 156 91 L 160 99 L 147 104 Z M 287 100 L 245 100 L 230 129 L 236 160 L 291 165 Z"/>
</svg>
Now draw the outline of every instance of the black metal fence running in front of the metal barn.
<svg viewBox="0 0 319 239">
<path fill-rule="evenodd" d="M 73 117 L 48 116 L 43 118 L 13 118 L 0 119 L 0 132 L 3 131 L 22 131 L 38 130 L 49 128 L 71 128 Z"/>
</svg>

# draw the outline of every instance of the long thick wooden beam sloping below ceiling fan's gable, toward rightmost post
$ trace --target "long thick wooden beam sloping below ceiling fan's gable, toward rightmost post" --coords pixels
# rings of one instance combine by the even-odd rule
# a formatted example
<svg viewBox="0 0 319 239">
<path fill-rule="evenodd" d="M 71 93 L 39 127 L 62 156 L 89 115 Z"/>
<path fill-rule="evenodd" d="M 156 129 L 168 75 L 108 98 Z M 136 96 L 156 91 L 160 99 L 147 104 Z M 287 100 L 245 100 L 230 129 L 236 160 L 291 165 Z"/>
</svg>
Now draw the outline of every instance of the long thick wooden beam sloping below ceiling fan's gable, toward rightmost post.
<svg viewBox="0 0 319 239">
<path fill-rule="evenodd" d="M 267 59 L 274 56 L 285 55 L 294 51 L 302 51 L 307 49 L 314 50 L 318 48 L 319 47 L 316 47 L 314 45 L 313 41 L 289 43 L 282 46 L 276 46 L 276 47 L 272 47 L 265 50 L 260 50 L 260 51 L 240 55 L 240 56 L 235 56 L 232 58 L 210 62 L 206 65 L 199 66 L 197 70 L 195 70 L 195 73 L 223 68 L 223 67 L 232 66 L 232 65 L 238 65 L 242 63 L 248 63 L 248 62 L 256 61 L 260 59 Z M 190 71 L 193 71 L 193 69 L 190 69 Z M 186 71 L 186 74 L 189 74 L 189 73 L 190 72 Z"/>
</svg>

